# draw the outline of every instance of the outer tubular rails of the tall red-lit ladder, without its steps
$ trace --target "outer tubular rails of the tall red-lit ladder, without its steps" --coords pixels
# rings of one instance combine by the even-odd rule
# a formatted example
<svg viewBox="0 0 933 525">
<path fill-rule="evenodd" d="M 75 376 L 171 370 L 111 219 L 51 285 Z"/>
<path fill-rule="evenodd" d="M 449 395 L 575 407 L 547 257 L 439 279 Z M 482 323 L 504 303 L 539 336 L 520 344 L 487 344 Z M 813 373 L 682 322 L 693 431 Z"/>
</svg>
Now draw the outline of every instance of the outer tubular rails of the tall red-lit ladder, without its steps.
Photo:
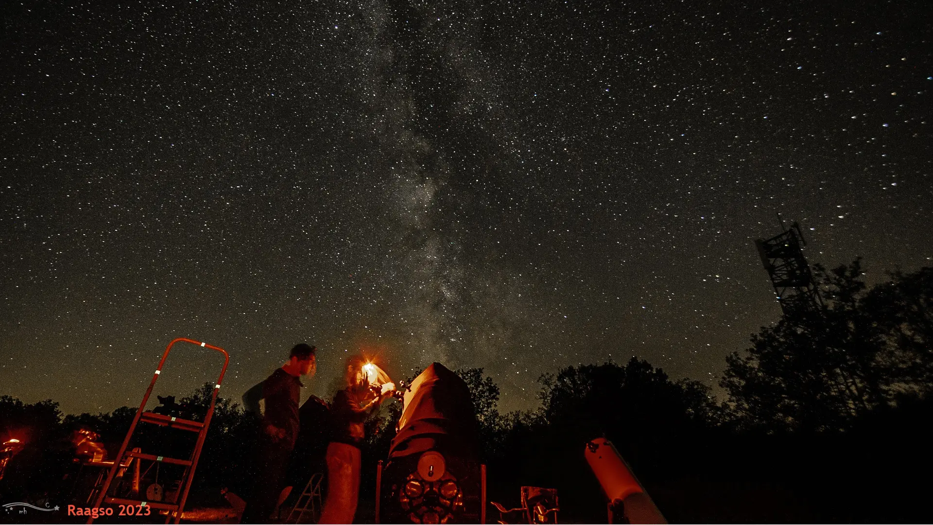
<svg viewBox="0 0 933 525">
<path fill-rule="evenodd" d="M 166 358 L 169 357 L 169 352 L 172 351 L 172 347 L 174 347 L 175 343 L 181 343 L 181 342 L 190 343 L 192 345 L 196 345 L 201 348 L 210 348 L 212 350 L 216 350 L 224 354 L 224 366 L 220 370 L 220 376 L 217 377 L 217 382 L 214 385 L 214 391 L 211 394 L 211 404 L 207 408 L 207 414 L 204 415 L 204 421 L 201 424 L 202 425 L 201 429 L 198 431 L 198 440 L 194 445 L 194 451 L 191 453 L 191 464 L 190 466 L 188 466 L 188 468 L 185 469 L 185 474 L 182 475 L 182 479 L 183 479 L 182 490 L 179 494 L 180 497 L 178 498 L 177 508 L 174 509 L 174 511 L 171 508 L 168 508 L 169 514 L 168 514 L 168 517 L 165 518 L 165 522 L 168 523 L 169 521 L 172 520 L 173 514 L 174 514 L 174 523 L 178 523 L 179 521 L 181 521 L 182 512 L 185 510 L 185 503 L 188 501 L 188 490 L 191 489 L 191 481 L 194 480 L 194 473 L 195 473 L 195 469 L 198 467 L 198 460 L 201 458 L 201 450 L 202 450 L 202 447 L 204 446 L 204 439 L 207 437 L 207 429 L 210 427 L 211 419 L 214 417 L 214 405 L 216 404 L 216 400 L 217 400 L 217 392 L 220 390 L 220 384 L 223 382 L 224 374 L 227 373 L 227 365 L 230 364 L 230 354 L 227 353 L 227 350 L 220 348 L 220 347 L 215 347 L 214 345 L 208 345 L 207 343 L 202 343 L 201 341 L 195 341 L 194 339 L 188 339 L 187 337 L 177 337 L 173 339 L 171 343 L 169 343 L 168 347 L 165 348 L 165 352 L 162 354 L 162 359 L 159 362 L 159 367 L 156 368 L 155 374 L 152 375 L 152 380 L 149 381 L 149 388 L 146 389 L 146 395 L 143 396 L 143 402 L 139 404 L 139 408 L 136 409 L 136 415 L 133 416 L 132 418 L 132 424 L 130 425 L 130 430 L 127 431 L 126 437 L 123 438 L 123 444 L 120 445 L 119 447 L 117 458 L 114 461 L 113 466 L 110 467 L 110 472 L 107 474 L 107 480 L 104 482 L 104 487 L 102 487 L 101 491 L 97 494 L 97 499 L 94 502 L 95 507 L 100 507 L 104 504 L 104 499 L 106 499 L 107 497 L 107 491 L 110 490 L 110 484 L 113 482 L 114 477 L 117 475 L 117 471 L 120 468 L 120 462 L 123 460 L 123 456 L 124 454 L 126 454 L 126 450 L 130 445 L 130 439 L 132 438 L 132 433 L 135 432 L 136 425 L 139 424 L 139 420 L 140 418 L 142 418 L 143 412 L 146 410 L 146 403 L 149 402 L 149 396 L 152 394 L 152 389 L 156 386 L 156 381 L 161 376 L 162 366 L 165 364 Z M 175 421 L 174 418 L 172 418 L 171 420 L 173 422 Z M 173 425 L 165 424 L 165 426 L 172 428 Z M 191 429 L 186 429 L 186 430 L 191 430 Z M 135 500 L 124 501 L 120 499 L 118 503 L 148 504 L 149 502 L 145 502 L 145 501 L 137 502 Z M 161 502 L 153 502 L 153 503 L 154 503 L 154 505 L 152 505 L 153 508 L 165 508 L 166 506 L 162 504 Z M 87 522 L 91 524 L 94 522 L 94 519 L 88 518 Z"/>
</svg>

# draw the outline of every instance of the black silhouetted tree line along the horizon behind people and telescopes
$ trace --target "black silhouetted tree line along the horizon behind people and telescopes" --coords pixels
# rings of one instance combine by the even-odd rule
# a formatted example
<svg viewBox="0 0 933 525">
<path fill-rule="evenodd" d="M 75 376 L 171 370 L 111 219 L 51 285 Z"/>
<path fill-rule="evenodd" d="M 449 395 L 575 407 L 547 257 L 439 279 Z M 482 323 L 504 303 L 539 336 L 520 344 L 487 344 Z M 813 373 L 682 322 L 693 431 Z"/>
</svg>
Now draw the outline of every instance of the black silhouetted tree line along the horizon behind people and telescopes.
<svg viewBox="0 0 933 525">
<path fill-rule="evenodd" d="M 457 371 L 473 395 L 489 499 L 518 506 L 520 486 L 552 487 L 564 521 L 604 520 L 606 502 L 582 450 L 605 435 L 672 522 L 928 519 L 933 268 L 896 272 L 871 288 L 857 260 L 817 265 L 814 274 L 823 304 L 787 312 L 731 354 L 722 403 L 708 386 L 632 358 L 542 376 L 539 408 L 500 413 L 492 378 L 480 368 Z M 211 391 L 205 384 L 181 404 L 202 413 Z M 115 450 L 133 411 L 63 417 L 51 401 L 0 397 L 0 435 L 15 431 L 31 444 L 11 462 L 0 494 L 59 504 L 77 497 L 68 493 L 68 436 L 90 428 Z M 400 411 L 386 404 L 367 423 L 363 500 L 374 495 L 375 464 Z M 256 428 L 255 416 L 218 400 L 191 504 L 223 504 L 224 487 L 248 490 Z M 162 440 L 164 449 L 167 438 L 151 433 L 140 446 Z M 296 492 L 310 474 L 292 473 Z M 361 503 L 357 520 L 370 520 L 370 508 Z"/>
</svg>

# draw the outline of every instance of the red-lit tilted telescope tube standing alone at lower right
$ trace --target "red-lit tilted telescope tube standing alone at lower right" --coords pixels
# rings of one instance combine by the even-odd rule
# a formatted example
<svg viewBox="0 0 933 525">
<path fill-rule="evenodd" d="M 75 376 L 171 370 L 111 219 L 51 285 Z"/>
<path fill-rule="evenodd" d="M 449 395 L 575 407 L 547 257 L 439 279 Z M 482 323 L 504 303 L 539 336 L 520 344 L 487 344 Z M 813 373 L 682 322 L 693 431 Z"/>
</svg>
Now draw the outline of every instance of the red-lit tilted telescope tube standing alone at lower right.
<svg viewBox="0 0 933 525">
<path fill-rule="evenodd" d="M 609 440 L 594 439 L 583 453 L 609 498 L 609 523 L 667 523 Z"/>
</svg>

